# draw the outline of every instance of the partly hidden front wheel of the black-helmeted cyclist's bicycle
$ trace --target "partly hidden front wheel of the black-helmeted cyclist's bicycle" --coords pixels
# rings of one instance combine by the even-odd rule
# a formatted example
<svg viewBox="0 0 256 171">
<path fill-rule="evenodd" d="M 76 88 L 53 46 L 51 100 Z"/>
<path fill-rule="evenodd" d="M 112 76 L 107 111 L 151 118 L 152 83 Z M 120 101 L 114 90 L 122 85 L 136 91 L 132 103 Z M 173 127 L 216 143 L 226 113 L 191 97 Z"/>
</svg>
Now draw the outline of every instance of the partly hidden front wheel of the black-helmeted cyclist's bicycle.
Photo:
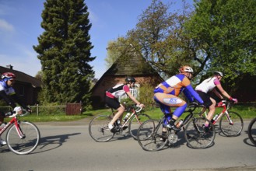
<svg viewBox="0 0 256 171">
<path fill-rule="evenodd" d="M 135 140 L 137 139 L 137 133 L 139 130 L 139 126 L 144 121 L 149 120 L 151 118 L 149 117 L 149 115 L 147 115 L 145 113 L 139 113 L 138 119 L 139 120 L 137 120 L 136 115 L 132 116 L 132 119 L 130 120 L 129 125 L 128 125 L 128 131 L 131 134 L 132 138 L 135 138 Z"/>
</svg>

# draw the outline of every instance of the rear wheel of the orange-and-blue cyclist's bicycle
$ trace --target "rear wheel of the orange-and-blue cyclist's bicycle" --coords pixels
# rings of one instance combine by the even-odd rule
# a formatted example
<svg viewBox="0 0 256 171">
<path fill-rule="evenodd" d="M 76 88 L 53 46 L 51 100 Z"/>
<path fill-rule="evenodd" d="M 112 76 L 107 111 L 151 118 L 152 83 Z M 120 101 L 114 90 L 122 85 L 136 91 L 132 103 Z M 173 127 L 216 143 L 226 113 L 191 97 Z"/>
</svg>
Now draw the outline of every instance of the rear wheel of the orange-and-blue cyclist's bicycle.
<svg viewBox="0 0 256 171">
<path fill-rule="evenodd" d="M 165 141 L 161 140 L 163 138 L 161 127 L 161 120 L 153 119 L 146 120 L 139 126 L 137 140 L 144 150 L 149 152 L 159 151 L 167 144 L 167 138 Z"/>
</svg>

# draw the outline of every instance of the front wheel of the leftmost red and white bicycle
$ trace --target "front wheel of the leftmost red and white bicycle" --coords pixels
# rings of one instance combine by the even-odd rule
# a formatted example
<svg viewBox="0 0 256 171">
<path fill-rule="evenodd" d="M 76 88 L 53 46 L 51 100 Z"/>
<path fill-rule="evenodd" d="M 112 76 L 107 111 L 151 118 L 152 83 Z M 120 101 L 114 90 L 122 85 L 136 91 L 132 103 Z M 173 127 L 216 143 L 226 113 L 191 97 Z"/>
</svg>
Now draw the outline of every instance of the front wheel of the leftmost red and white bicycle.
<svg viewBox="0 0 256 171">
<path fill-rule="evenodd" d="M 23 134 L 23 137 L 21 138 L 19 134 Z M 39 129 L 35 124 L 27 121 L 19 121 L 18 127 L 12 124 L 6 134 L 6 143 L 9 149 L 17 155 L 26 155 L 33 152 L 39 141 Z"/>
</svg>

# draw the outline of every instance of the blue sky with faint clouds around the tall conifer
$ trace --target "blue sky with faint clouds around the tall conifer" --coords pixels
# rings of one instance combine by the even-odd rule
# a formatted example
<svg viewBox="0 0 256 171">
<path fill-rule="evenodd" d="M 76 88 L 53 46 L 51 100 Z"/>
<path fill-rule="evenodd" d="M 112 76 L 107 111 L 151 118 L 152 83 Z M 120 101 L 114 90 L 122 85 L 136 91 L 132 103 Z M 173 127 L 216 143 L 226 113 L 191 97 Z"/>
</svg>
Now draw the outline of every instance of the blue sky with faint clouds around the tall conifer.
<svg viewBox="0 0 256 171">
<path fill-rule="evenodd" d="M 41 69 L 33 45 L 44 30 L 40 27 L 41 12 L 45 0 L 0 0 L 0 65 L 12 65 L 13 69 L 35 76 Z M 89 20 L 93 24 L 89 34 L 94 46 L 91 51 L 96 59 L 90 63 L 95 78 L 100 79 L 107 71 L 107 43 L 125 36 L 135 28 L 139 15 L 151 4 L 151 0 L 85 0 Z M 175 2 L 174 10 L 181 9 L 181 0 Z M 188 0 L 192 3 L 192 0 Z"/>
</svg>

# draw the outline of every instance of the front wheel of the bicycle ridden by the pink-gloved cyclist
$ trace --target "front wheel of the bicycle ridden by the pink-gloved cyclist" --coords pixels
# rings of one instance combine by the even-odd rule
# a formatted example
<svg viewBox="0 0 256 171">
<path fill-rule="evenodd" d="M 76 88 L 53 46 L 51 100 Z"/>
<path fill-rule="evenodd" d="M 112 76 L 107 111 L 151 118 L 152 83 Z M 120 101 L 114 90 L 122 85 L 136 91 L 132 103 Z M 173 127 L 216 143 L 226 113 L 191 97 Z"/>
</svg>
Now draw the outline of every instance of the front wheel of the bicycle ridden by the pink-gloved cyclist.
<svg viewBox="0 0 256 171">
<path fill-rule="evenodd" d="M 244 127 L 244 121 L 240 114 L 236 112 L 229 112 L 230 119 L 233 121 L 233 124 L 230 124 L 230 121 L 226 117 L 226 114 L 221 117 L 219 120 L 219 128 L 226 137 L 237 137 L 240 135 Z"/>
</svg>

